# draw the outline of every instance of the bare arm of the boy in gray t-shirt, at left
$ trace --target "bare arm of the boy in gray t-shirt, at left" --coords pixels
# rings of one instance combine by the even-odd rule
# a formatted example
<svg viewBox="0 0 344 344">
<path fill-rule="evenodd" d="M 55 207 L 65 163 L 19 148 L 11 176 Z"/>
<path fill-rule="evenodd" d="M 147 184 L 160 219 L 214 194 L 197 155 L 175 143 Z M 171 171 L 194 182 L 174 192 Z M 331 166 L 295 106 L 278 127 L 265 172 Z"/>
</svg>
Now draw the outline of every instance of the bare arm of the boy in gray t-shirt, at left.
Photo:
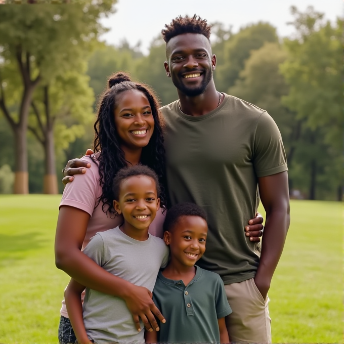
<svg viewBox="0 0 344 344">
<path fill-rule="evenodd" d="M 64 294 L 69 320 L 79 344 L 91 343 L 82 318 L 81 293 L 84 289 L 83 285 L 71 279 Z"/>
</svg>

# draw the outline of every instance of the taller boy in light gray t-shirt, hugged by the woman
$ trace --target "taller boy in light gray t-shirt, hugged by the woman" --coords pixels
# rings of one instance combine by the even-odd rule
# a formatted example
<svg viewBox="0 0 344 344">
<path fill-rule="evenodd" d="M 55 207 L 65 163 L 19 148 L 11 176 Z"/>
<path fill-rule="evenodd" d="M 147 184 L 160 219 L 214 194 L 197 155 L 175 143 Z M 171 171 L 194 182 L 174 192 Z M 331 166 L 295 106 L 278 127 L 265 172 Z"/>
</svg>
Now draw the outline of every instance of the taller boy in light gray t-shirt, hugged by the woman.
<svg viewBox="0 0 344 344">
<path fill-rule="evenodd" d="M 83 252 L 111 274 L 152 291 L 160 267 L 168 261 L 168 247 L 148 233 L 160 205 L 158 178 L 147 166 L 123 168 L 114 179 L 113 193 L 114 208 L 124 223 L 97 233 Z M 65 290 L 78 344 L 144 342 L 143 323 L 138 333 L 123 299 L 86 288 L 81 305 L 83 290 L 73 279 Z"/>
</svg>

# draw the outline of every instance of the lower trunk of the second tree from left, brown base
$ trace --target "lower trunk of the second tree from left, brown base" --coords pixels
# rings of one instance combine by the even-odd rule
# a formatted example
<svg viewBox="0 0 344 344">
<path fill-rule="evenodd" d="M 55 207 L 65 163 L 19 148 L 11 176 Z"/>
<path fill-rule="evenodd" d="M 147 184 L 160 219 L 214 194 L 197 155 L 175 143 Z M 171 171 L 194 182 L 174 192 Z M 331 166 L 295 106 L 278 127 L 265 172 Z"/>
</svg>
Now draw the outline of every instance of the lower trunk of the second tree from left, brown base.
<svg viewBox="0 0 344 344">
<path fill-rule="evenodd" d="M 53 130 L 47 130 L 46 140 L 44 145 L 44 151 L 46 155 L 46 171 L 44 176 L 44 188 L 45 194 L 56 195 L 59 193 L 57 187 L 56 165 L 55 165 L 55 149 L 54 149 L 54 132 Z"/>
</svg>

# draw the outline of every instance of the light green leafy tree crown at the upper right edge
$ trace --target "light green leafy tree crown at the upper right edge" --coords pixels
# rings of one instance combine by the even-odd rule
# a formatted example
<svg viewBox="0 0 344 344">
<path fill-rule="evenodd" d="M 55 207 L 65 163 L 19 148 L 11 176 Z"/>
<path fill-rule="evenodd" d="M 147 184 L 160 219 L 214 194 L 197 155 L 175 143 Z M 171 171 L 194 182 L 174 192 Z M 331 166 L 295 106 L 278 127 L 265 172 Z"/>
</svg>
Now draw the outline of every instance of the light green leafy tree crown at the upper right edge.
<svg viewBox="0 0 344 344">
<path fill-rule="evenodd" d="M 314 22 L 314 26 L 318 22 Z M 299 32 L 297 39 L 286 39 L 284 44 L 289 58 L 281 71 L 290 85 L 284 104 L 306 119 L 312 130 L 327 127 L 325 142 L 334 148 L 342 148 L 343 97 L 342 97 L 342 25 L 337 20 L 318 30 Z"/>
</svg>

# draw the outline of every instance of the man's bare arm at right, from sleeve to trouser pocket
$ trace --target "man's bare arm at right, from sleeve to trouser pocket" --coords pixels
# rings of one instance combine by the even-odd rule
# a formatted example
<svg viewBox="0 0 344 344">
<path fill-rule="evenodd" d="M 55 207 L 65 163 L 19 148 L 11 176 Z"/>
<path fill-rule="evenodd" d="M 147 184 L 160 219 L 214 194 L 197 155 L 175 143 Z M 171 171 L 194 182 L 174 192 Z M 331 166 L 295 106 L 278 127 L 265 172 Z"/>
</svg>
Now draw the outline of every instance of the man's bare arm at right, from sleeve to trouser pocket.
<svg viewBox="0 0 344 344">
<path fill-rule="evenodd" d="M 259 193 L 266 211 L 264 240 L 254 282 L 265 299 L 283 251 L 290 224 L 287 171 L 258 179 Z"/>
</svg>

